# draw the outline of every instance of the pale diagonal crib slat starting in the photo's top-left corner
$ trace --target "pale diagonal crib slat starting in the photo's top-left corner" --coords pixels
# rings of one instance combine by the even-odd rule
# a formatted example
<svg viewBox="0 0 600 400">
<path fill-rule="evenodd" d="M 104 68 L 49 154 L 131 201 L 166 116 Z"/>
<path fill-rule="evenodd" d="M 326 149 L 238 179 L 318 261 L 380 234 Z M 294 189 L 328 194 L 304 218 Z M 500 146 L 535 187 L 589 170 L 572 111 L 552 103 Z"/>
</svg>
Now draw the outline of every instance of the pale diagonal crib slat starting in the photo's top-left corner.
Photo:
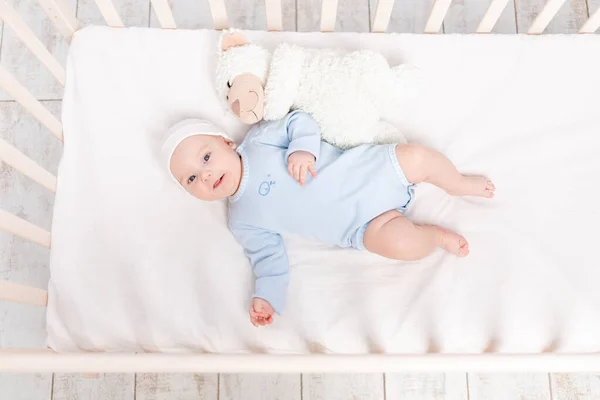
<svg viewBox="0 0 600 400">
<path fill-rule="evenodd" d="M 65 70 L 44 44 L 29 29 L 19 14 L 6 1 L 0 0 L 0 19 L 8 25 L 29 50 L 48 68 L 54 77 L 65 85 Z"/>
</svg>

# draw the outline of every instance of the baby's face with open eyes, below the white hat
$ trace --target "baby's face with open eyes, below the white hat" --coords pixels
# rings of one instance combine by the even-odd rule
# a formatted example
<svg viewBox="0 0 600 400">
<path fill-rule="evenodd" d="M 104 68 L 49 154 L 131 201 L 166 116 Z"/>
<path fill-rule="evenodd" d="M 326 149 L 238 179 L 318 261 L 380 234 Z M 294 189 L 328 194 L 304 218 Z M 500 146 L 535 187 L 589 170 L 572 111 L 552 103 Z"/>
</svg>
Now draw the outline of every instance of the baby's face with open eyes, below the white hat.
<svg viewBox="0 0 600 400">
<path fill-rule="evenodd" d="M 200 200 L 232 196 L 242 179 L 242 161 L 235 143 L 221 136 L 184 139 L 173 152 L 170 168 L 181 186 Z"/>
</svg>

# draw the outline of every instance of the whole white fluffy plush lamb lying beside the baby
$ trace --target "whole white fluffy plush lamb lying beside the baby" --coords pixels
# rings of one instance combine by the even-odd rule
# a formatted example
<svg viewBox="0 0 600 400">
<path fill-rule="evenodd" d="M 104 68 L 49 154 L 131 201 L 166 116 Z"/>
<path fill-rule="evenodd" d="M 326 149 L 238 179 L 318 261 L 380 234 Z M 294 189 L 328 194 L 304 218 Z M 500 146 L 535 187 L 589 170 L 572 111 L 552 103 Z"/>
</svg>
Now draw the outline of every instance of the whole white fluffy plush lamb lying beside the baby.
<svg viewBox="0 0 600 400">
<path fill-rule="evenodd" d="M 276 120 L 291 110 L 309 113 L 323 140 L 340 148 L 406 140 L 381 119 L 401 113 L 399 99 L 418 81 L 408 65 L 390 68 L 370 50 L 346 52 L 280 44 L 271 54 L 236 30 L 219 43 L 219 97 L 244 123 Z"/>
</svg>

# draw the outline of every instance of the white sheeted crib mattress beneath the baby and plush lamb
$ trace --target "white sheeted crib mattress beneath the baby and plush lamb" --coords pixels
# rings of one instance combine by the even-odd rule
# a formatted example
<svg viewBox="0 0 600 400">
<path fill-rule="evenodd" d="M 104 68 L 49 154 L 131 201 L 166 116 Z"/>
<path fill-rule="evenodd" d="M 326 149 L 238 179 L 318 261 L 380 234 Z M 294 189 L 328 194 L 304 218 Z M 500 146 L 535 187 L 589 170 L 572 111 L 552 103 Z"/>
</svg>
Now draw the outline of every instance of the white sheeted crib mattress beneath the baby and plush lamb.
<svg viewBox="0 0 600 400">
<path fill-rule="evenodd" d="M 409 140 L 491 177 L 493 201 L 417 187 L 408 216 L 471 254 L 395 262 L 286 237 L 285 316 L 254 328 L 253 278 L 225 203 L 172 186 L 153 154 L 183 117 L 246 128 L 212 89 L 217 32 L 76 33 L 52 227 L 58 351 L 600 351 L 600 36 L 250 32 L 268 47 L 373 48 L 424 74 L 390 116 Z"/>
</svg>

